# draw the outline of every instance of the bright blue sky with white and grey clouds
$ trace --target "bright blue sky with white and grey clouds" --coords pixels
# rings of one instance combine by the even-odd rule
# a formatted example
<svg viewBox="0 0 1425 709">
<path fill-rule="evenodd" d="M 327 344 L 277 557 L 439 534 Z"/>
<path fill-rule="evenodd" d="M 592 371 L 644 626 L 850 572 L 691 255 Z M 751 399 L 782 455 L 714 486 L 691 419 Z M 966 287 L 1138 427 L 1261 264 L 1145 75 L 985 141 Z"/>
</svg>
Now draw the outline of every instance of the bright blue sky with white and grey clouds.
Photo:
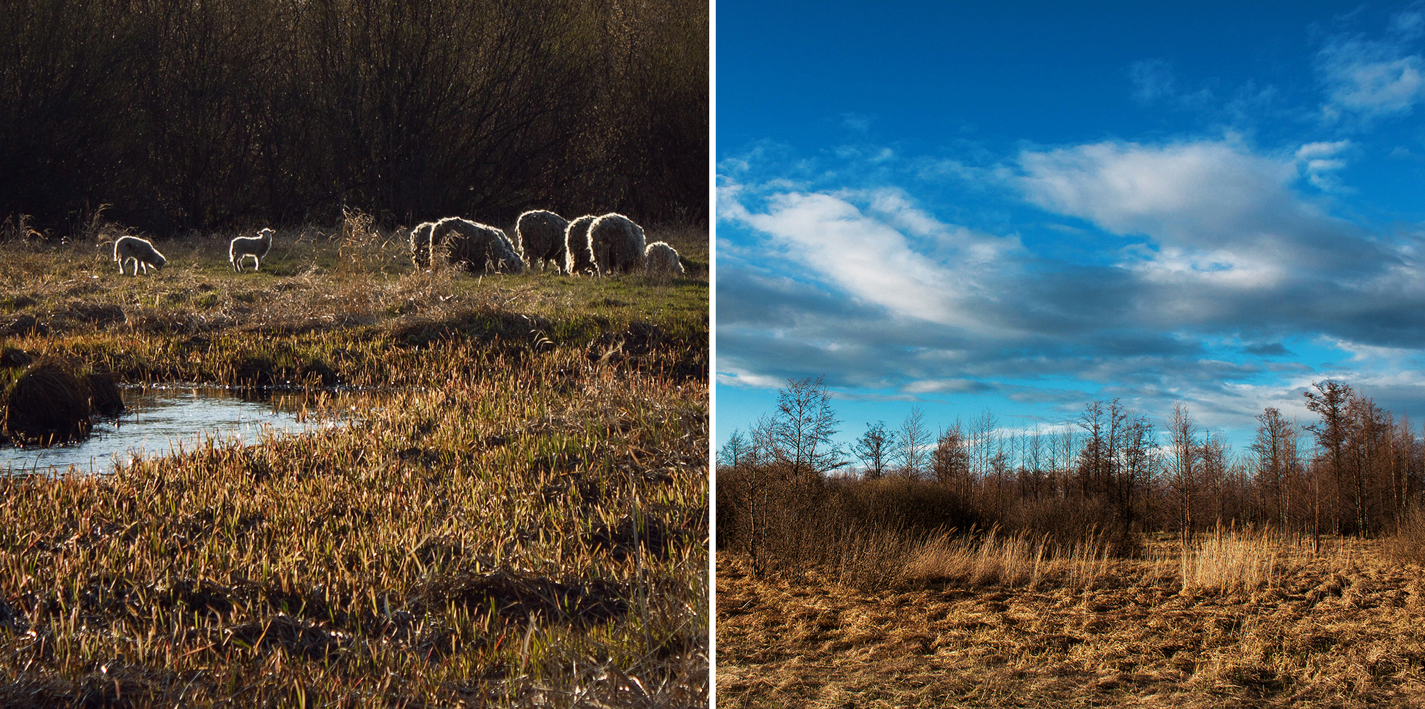
<svg viewBox="0 0 1425 709">
<path fill-rule="evenodd" d="M 717 444 L 804 376 L 846 441 L 1425 421 L 1425 4 L 722 1 L 717 57 Z"/>
</svg>

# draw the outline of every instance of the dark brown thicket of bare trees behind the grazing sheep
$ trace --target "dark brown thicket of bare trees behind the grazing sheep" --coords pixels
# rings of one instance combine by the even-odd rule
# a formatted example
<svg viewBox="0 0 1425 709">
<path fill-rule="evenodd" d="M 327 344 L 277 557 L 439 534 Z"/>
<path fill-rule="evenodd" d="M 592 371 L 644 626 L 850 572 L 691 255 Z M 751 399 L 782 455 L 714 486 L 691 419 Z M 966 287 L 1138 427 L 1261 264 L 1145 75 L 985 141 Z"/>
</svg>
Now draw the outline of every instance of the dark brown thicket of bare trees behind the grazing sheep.
<svg viewBox="0 0 1425 709">
<path fill-rule="evenodd" d="M 0 3 L 0 218 L 707 218 L 708 4 Z"/>
</svg>

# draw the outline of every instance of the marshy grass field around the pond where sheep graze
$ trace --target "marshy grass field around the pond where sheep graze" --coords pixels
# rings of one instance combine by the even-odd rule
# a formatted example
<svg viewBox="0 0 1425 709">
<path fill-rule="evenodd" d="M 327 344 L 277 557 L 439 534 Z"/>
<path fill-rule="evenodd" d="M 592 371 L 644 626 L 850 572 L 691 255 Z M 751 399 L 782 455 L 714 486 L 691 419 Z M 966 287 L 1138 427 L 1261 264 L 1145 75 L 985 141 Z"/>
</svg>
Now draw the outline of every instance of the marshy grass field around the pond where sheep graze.
<svg viewBox="0 0 1425 709">
<path fill-rule="evenodd" d="M 4 347 L 351 426 L 0 480 L 0 705 L 705 705 L 705 229 L 648 229 L 661 280 L 418 272 L 362 219 L 134 278 L 104 236 L 0 245 Z"/>
</svg>

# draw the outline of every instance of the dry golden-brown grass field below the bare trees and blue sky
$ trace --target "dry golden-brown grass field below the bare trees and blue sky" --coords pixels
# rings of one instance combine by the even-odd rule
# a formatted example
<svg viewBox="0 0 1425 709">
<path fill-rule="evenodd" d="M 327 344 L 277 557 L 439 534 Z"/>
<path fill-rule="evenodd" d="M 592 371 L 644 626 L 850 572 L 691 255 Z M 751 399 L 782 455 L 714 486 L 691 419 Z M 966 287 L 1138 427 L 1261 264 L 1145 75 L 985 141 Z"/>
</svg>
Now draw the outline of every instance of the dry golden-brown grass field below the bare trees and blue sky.
<svg viewBox="0 0 1425 709">
<path fill-rule="evenodd" d="M 718 706 L 1364 708 L 1425 696 L 1425 569 L 1381 542 L 1334 540 L 1317 555 L 1227 534 L 1187 561 L 1174 544 L 1143 560 L 1060 558 L 1037 582 L 992 572 L 1005 547 L 982 561 L 978 550 L 915 555 L 915 572 L 879 588 L 839 585 L 835 569 L 755 578 L 720 552 Z M 1017 558 L 1012 568 L 1032 564 L 1032 545 Z"/>
</svg>

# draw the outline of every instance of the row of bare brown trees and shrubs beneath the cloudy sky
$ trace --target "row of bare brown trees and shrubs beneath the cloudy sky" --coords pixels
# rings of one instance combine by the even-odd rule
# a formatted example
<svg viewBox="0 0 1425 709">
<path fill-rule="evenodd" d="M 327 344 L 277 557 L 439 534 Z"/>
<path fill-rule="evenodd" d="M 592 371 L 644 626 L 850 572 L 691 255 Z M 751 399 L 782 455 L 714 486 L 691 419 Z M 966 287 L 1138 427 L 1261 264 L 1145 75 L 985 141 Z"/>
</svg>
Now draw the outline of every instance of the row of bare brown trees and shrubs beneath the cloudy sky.
<svg viewBox="0 0 1425 709">
<path fill-rule="evenodd" d="M 1268 407 L 1243 451 L 1181 404 L 1156 423 L 1119 400 L 1053 430 L 1006 431 L 985 411 L 931 431 L 912 409 L 899 429 L 868 424 L 842 450 L 821 380 L 794 380 L 777 411 L 718 451 L 718 545 L 795 561 L 846 530 L 999 525 L 1066 544 L 1096 532 L 1120 552 L 1147 532 L 1190 541 L 1217 525 L 1395 532 L 1425 483 L 1409 420 L 1334 380 L 1312 384 L 1305 403 L 1317 420 Z M 852 457 L 859 476 L 848 474 Z"/>
</svg>

